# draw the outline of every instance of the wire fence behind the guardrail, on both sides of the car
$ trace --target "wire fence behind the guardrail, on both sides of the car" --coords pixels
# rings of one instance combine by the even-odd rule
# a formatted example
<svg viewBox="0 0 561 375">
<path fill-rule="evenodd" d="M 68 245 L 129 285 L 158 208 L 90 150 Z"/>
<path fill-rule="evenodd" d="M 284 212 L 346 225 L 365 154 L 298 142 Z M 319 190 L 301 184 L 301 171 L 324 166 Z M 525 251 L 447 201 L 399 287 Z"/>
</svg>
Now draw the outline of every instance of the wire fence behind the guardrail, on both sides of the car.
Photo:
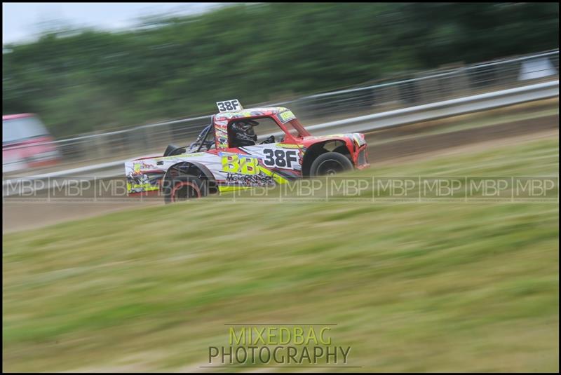
<svg viewBox="0 0 561 375">
<path fill-rule="evenodd" d="M 344 116 L 465 97 L 531 83 L 558 79 L 559 50 L 449 69 L 403 74 L 400 79 L 368 86 L 298 97 L 280 103 L 245 104 L 245 107 L 289 107 L 304 125 Z M 188 144 L 210 116 L 198 116 L 137 126 L 126 130 L 82 135 L 52 142 L 62 163 L 100 162 L 163 152 L 167 144 Z M 25 146 L 22 146 L 25 147 Z"/>
</svg>

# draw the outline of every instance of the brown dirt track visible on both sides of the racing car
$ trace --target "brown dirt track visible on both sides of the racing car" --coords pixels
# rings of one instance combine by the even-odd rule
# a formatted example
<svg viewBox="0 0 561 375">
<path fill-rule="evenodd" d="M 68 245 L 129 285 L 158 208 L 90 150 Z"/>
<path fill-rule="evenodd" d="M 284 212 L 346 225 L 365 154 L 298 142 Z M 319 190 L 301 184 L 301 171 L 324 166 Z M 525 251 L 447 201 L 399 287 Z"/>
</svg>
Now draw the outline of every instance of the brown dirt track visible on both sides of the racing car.
<svg viewBox="0 0 561 375">
<path fill-rule="evenodd" d="M 368 150 L 369 161 L 373 166 L 396 159 L 421 154 L 440 153 L 444 150 L 479 144 L 481 142 L 497 141 L 499 139 L 520 138 L 536 133 L 546 136 L 558 136 L 559 115 L 543 116 L 529 120 L 499 123 L 480 128 L 442 132 L 440 134 L 422 135 L 419 127 L 410 125 L 399 130 L 384 131 L 384 139 L 417 135 L 414 138 L 394 139 L 381 144 L 373 144 Z M 393 133 L 392 133 L 393 132 Z M 379 132 L 372 132 L 367 139 L 372 142 L 377 139 Z M 492 144 L 489 144 L 492 146 Z M 151 202 L 142 205 L 161 205 Z M 17 231 L 32 229 L 60 221 L 80 219 L 106 212 L 122 210 L 126 207 L 140 207 L 140 203 L 11 203 L 6 200 L 2 205 L 2 231 Z"/>
</svg>

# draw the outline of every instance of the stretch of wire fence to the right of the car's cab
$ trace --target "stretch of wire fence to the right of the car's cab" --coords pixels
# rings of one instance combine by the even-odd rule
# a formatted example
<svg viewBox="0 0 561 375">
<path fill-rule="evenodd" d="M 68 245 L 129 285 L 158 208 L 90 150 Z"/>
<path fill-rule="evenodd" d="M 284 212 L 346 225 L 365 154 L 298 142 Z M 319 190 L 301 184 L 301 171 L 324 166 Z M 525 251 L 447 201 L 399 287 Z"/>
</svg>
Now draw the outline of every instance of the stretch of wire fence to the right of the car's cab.
<svg viewBox="0 0 561 375">
<path fill-rule="evenodd" d="M 372 113 L 557 79 L 559 50 L 454 69 L 424 71 L 398 81 L 301 97 L 290 107 L 304 120 Z"/>
</svg>

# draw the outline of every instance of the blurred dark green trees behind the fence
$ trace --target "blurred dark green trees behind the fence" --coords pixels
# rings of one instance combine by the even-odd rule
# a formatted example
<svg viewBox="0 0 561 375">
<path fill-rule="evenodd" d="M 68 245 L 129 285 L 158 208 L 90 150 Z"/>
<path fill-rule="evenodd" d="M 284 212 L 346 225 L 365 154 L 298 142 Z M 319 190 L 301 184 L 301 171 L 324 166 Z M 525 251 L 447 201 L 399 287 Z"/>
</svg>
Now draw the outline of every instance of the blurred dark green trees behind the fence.
<svg viewBox="0 0 561 375">
<path fill-rule="evenodd" d="M 62 137 L 558 46 L 557 3 L 233 4 L 5 45 L 3 113 Z"/>
</svg>

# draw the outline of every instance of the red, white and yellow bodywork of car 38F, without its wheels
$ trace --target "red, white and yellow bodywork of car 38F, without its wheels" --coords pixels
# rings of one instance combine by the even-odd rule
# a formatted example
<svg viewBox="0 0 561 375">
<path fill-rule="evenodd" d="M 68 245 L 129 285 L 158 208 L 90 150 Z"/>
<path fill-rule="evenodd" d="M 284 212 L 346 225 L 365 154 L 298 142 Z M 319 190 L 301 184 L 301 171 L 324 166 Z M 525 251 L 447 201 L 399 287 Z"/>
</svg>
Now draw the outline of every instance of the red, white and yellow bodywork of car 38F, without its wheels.
<svg viewBox="0 0 561 375">
<path fill-rule="evenodd" d="M 233 146 L 229 135 L 230 125 L 241 119 L 257 122 L 270 119 L 276 130 L 272 135 L 280 135 L 280 138 L 253 146 Z M 211 135 L 212 139 L 209 139 Z M 262 134 L 267 135 L 271 133 Z M 201 142 L 198 142 L 199 139 Z M 201 149 L 203 144 L 210 149 Z M 212 116 L 212 123 L 191 146 L 172 147 L 173 151 L 180 149 L 183 152 L 179 154 L 127 161 L 125 171 L 129 195 L 157 193 L 168 171 L 173 170 L 172 173 L 175 173 L 175 170 L 186 165 L 198 170 L 197 173 L 204 175 L 205 179 L 216 182 L 221 192 L 238 186 L 259 186 L 272 181 L 285 183 L 291 179 L 309 177 L 313 161 L 330 151 L 349 158 L 353 168 L 363 169 L 369 166 L 363 134 L 310 135 L 292 111 L 284 107 L 220 112 Z M 237 163 L 239 158 L 243 158 L 244 162 Z"/>
</svg>

